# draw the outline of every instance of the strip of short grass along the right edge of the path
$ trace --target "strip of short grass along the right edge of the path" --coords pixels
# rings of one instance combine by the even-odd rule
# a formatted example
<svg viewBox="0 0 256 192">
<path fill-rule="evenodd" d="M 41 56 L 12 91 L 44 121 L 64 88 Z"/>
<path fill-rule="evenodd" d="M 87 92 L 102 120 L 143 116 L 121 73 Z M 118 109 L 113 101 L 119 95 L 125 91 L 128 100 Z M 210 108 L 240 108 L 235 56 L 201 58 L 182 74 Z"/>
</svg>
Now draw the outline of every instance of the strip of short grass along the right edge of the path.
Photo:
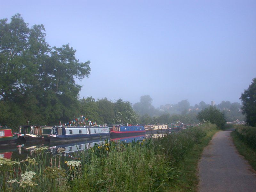
<svg viewBox="0 0 256 192">
<path fill-rule="evenodd" d="M 244 141 L 240 140 L 238 134 L 235 131 L 231 132 L 231 136 L 233 138 L 233 142 L 234 142 L 239 154 L 244 156 L 244 158 L 248 161 L 248 163 L 256 171 L 256 150 L 251 148 Z"/>
</svg>

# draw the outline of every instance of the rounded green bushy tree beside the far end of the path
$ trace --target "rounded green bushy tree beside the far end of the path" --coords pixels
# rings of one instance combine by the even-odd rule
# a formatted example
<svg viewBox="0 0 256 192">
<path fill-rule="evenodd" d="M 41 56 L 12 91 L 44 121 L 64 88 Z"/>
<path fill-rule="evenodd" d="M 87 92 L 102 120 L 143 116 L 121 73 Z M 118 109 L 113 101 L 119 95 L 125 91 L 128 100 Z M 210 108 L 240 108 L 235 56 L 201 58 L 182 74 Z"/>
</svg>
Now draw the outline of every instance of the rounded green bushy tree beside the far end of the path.
<svg viewBox="0 0 256 192">
<path fill-rule="evenodd" d="M 210 106 L 197 115 L 197 119 L 201 122 L 209 121 L 212 124 L 216 124 L 219 128 L 223 129 L 226 123 L 224 114 L 217 108 Z"/>
</svg>

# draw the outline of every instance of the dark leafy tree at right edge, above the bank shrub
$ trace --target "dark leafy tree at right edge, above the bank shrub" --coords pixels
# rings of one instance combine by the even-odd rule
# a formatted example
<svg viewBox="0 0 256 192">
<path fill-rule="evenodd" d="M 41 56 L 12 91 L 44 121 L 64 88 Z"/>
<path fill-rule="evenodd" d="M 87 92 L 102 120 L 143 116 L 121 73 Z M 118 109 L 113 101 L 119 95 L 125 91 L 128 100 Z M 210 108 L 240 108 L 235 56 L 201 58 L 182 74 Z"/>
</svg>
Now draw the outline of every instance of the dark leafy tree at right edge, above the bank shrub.
<svg viewBox="0 0 256 192">
<path fill-rule="evenodd" d="M 242 101 L 242 110 L 246 116 L 246 122 L 256 127 L 256 78 L 252 79 L 252 84 L 244 90 L 240 100 Z"/>
</svg>

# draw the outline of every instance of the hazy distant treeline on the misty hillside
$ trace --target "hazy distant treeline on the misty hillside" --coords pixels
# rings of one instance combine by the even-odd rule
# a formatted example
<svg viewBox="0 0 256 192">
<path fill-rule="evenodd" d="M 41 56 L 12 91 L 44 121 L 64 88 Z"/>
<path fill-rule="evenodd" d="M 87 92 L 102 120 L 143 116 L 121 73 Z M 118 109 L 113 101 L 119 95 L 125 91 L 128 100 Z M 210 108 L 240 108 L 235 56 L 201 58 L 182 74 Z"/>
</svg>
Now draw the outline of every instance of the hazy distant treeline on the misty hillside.
<svg viewBox="0 0 256 192">
<path fill-rule="evenodd" d="M 161 105 L 159 108 L 155 108 L 152 105 L 152 101 L 153 100 L 149 95 L 143 95 L 140 97 L 140 102 L 136 102 L 133 105 L 133 108 L 136 111 L 136 113 L 142 117 L 142 121 L 143 118 L 148 118 L 148 116 L 151 118 L 160 118 L 160 116 L 162 116 L 163 118 L 164 116 L 168 116 L 167 114 L 169 114 L 171 120 L 176 119 L 176 117 L 179 116 L 180 119 L 182 119 L 180 121 L 184 123 L 188 123 L 191 121 L 197 122 L 197 114 L 200 111 L 211 106 L 210 104 L 206 104 L 204 101 L 201 101 L 199 104 L 196 104 L 195 106 L 191 106 L 188 100 L 181 100 L 177 104 L 166 104 Z M 239 119 L 240 121 L 245 120 L 245 116 L 242 114 L 242 105 L 240 103 L 222 101 L 220 104 L 215 105 L 214 107 L 223 112 L 228 122 L 235 121 L 236 119 Z"/>
</svg>

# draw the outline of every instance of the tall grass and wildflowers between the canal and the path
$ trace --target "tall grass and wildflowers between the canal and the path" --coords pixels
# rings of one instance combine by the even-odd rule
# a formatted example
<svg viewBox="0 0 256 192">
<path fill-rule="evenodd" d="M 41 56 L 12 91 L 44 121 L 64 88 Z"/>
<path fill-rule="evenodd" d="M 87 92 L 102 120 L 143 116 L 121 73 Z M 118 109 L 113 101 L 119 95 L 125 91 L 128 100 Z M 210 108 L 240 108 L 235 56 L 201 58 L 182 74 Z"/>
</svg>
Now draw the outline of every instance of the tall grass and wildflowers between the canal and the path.
<svg viewBox="0 0 256 192">
<path fill-rule="evenodd" d="M 74 162 L 67 162 L 61 150 L 59 155 L 51 154 L 49 158 L 47 149 L 42 148 L 34 159 L 28 158 L 20 164 L 0 165 L 0 189 L 165 191 L 179 180 L 180 171 L 177 164 L 195 145 L 202 142 L 208 132 L 216 129 L 216 125 L 204 124 L 157 139 L 150 138 L 132 143 L 106 140 L 104 144 L 76 153 Z M 35 173 L 30 175 L 31 186 L 24 179 L 24 175 L 22 176 L 29 172 Z M 12 183 L 7 180 L 16 181 Z"/>
</svg>

